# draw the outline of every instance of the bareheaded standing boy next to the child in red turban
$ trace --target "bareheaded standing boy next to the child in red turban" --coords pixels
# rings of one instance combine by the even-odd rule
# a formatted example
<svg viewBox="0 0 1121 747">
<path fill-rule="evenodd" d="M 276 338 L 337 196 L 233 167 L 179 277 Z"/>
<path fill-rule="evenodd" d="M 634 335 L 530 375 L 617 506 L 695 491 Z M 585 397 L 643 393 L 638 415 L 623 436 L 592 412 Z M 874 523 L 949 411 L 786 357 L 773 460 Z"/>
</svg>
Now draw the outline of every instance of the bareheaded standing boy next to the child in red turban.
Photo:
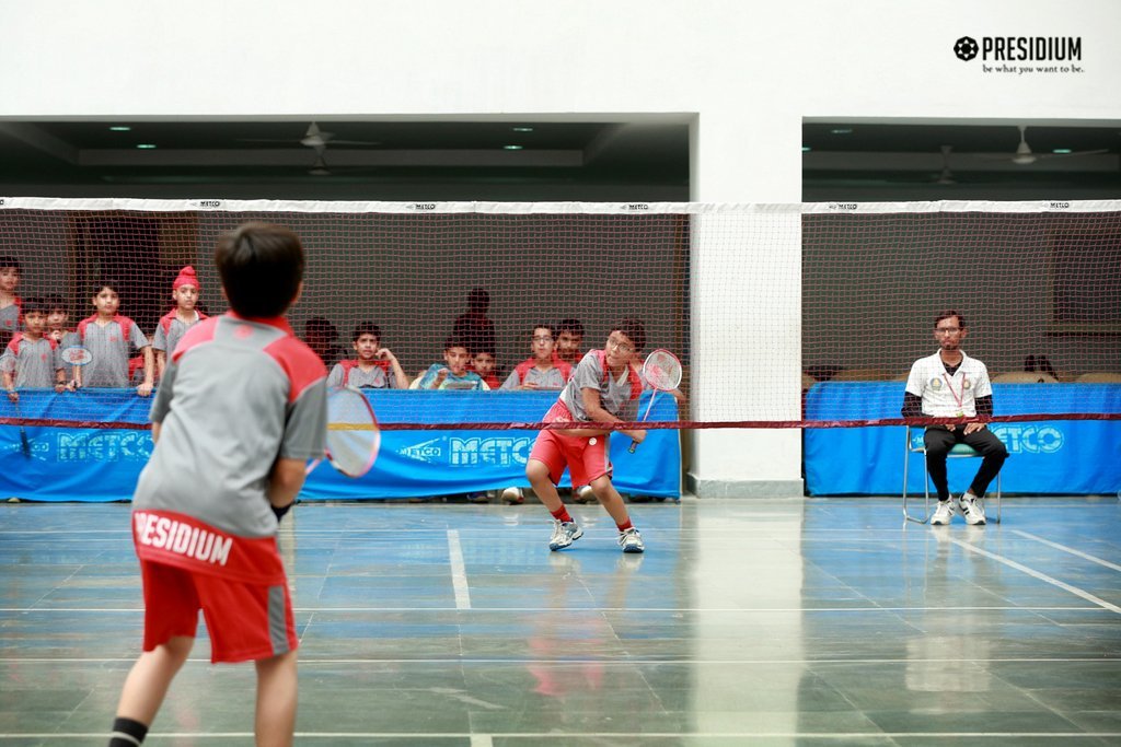
<svg viewBox="0 0 1121 747">
<path fill-rule="evenodd" d="M 143 381 L 137 386 L 137 394 L 151 394 L 155 363 L 151 345 L 132 319 L 118 314 L 121 298 L 112 282 L 94 287 L 92 298 L 96 312 L 77 324 L 77 335 L 82 345 L 90 351 L 91 361 L 75 373 L 80 386 L 124 387 L 129 380 L 129 346 L 143 356 Z"/>
</svg>

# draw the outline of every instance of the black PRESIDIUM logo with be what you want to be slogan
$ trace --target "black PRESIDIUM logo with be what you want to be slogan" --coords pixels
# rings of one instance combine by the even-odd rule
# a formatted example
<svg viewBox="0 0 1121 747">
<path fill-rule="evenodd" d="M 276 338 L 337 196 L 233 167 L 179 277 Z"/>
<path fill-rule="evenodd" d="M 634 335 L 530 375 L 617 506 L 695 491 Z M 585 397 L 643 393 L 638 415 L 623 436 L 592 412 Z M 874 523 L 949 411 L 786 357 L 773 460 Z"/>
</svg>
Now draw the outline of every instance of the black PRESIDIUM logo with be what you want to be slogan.
<svg viewBox="0 0 1121 747">
<path fill-rule="evenodd" d="M 954 43 L 954 54 L 965 63 L 980 55 L 982 73 L 1046 75 L 1085 72 L 1084 67 L 1075 64 L 1082 62 L 1081 36 L 983 36 L 980 41 L 972 36 L 963 36 Z M 990 62 L 993 64 L 985 64 Z"/>
</svg>

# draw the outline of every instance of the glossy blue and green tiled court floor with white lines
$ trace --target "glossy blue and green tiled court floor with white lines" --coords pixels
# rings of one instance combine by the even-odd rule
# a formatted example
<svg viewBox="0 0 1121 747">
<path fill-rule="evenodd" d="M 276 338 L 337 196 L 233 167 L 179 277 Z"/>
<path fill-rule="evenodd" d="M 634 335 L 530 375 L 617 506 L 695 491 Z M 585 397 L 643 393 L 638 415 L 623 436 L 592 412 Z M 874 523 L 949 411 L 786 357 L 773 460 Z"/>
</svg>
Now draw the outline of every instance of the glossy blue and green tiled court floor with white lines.
<svg viewBox="0 0 1121 747">
<path fill-rule="evenodd" d="M 1004 507 L 646 504 L 622 555 L 594 506 L 550 553 L 540 506 L 300 505 L 297 743 L 1119 745 L 1121 506 Z M 0 747 L 104 744 L 141 634 L 128 511 L 0 506 Z M 147 744 L 252 744 L 252 669 L 209 648 Z"/>
</svg>

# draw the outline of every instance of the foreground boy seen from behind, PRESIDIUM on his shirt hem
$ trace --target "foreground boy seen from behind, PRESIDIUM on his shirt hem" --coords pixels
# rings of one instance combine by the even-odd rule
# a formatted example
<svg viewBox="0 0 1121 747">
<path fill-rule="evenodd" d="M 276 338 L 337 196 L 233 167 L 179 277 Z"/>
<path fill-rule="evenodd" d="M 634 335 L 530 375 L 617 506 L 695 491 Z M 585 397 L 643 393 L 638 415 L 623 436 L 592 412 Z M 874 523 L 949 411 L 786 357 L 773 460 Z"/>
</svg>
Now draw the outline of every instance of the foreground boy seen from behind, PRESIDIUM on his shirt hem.
<svg viewBox="0 0 1121 747">
<path fill-rule="evenodd" d="M 282 317 L 303 289 L 296 234 L 245 224 L 219 241 L 215 263 L 232 310 L 187 330 L 152 402 L 156 448 L 132 511 L 145 653 L 114 747 L 142 741 L 200 609 L 212 661 L 256 663 L 257 743 L 293 738 L 297 641 L 276 531 L 307 460 L 323 455 L 326 370 Z"/>
</svg>

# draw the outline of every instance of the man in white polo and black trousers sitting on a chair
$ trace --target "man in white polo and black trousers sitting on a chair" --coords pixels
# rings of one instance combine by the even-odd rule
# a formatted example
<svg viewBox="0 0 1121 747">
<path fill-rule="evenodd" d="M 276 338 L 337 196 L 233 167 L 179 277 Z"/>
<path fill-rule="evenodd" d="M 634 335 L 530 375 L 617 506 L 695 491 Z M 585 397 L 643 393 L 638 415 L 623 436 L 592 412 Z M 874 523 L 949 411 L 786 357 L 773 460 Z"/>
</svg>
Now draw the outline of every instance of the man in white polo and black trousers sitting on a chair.
<svg viewBox="0 0 1121 747">
<path fill-rule="evenodd" d="M 983 422 L 992 415 L 992 384 L 985 365 L 961 349 L 967 334 L 961 314 L 953 310 L 939 314 L 934 320 L 934 338 L 939 349 L 915 362 L 904 394 L 904 418 L 970 419 L 970 422 L 926 429 L 926 464 L 938 491 L 938 508 L 930 519 L 932 524 L 948 524 L 954 517 L 946 479 L 946 455 L 954 445 L 964 442 L 984 457 L 970 489 L 957 499 L 967 524 L 984 524 L 984 510 L 978 498 L 984 497 L 989 483 L 1008 458 L 1008 449 Z"/>
</svg>

